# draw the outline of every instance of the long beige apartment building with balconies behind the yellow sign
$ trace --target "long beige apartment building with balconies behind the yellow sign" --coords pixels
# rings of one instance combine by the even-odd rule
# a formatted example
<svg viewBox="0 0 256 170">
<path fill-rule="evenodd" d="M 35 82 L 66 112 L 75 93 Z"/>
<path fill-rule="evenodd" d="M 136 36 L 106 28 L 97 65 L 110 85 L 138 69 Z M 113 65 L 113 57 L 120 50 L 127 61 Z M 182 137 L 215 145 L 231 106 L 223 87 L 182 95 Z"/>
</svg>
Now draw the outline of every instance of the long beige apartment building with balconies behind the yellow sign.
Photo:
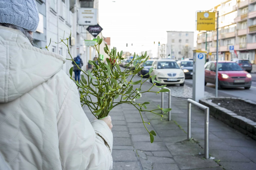
<svg viewBox="0 0 256 170">
<path fill-rule="evenodd" d="M 210 10 L 219 11 L 219 59 L 249 59 L 255 64 L 256 0 L 226 0 Z M 211 52 L 210 60 L 216 59 L 216 45 L 216 31 L 198 33 L 197 49 Z M 237 54 L 229 52 L 230 45 Z"/>
</svg>

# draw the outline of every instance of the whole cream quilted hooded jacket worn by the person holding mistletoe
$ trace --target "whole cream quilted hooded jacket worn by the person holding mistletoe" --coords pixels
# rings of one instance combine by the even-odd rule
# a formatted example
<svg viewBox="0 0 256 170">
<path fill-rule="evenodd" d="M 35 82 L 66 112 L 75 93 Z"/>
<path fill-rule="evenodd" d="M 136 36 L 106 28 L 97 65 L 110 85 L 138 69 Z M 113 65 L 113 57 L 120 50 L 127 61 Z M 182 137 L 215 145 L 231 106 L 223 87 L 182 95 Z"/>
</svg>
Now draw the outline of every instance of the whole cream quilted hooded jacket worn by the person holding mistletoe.
<svg viewBox="0 0 256 170">
<path fill-rule="evenodd" d="M 65 58 L 0 26 L 0 169 L 112 169 L 112 132 L 89 122 Z"/>
</svg>

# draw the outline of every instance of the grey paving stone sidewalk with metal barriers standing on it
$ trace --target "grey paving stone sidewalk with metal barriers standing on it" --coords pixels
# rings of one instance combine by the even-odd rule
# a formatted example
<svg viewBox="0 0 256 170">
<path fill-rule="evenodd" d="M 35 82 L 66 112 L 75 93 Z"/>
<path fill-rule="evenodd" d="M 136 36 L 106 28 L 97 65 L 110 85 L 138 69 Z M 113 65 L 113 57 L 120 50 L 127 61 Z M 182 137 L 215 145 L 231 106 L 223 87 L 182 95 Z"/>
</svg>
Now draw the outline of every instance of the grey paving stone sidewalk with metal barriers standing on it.
<svg viewBox="0 0 256 170">
<path fill-rule="evenodd" d="M 137 81 L 134 79 L 134 81 Z M 145 83 L 143 89 L 152 86 Z M 158 88 L 152 88 L 159 91 Z M 148 110 L 156 109 L 161 104 L 161 94 L 147 93 L 138 103 L 149 101 Z M 165 95 L 167 107 L 167 95 Z M 196 141 L 186 140 L 187 102 L 184 98 L 172 97 L 172 121 L 167 115 L 162 122 L 160 117 L 146 125 L 157 136 L 150 142 L 138 110 L 131 105 L 122 104 L 111 110 L 113 123 L 113 169 L 114 170 L 251 170 L 256 169 L 256 142 L 237 132 L 219 120 L 210 117 L 209 153 L 214 159 L 204 159 L 204 112 L 192 106 L 191 137 Z M 94 116 L 84 107 L 89 120 Z M 155 114 L 142 113 L 144 121 L 149 121 Z M 220 161 L 219 161 L 220 160 Z M 217 162 L 217 163 L 216 163 Z"/>
</svg>

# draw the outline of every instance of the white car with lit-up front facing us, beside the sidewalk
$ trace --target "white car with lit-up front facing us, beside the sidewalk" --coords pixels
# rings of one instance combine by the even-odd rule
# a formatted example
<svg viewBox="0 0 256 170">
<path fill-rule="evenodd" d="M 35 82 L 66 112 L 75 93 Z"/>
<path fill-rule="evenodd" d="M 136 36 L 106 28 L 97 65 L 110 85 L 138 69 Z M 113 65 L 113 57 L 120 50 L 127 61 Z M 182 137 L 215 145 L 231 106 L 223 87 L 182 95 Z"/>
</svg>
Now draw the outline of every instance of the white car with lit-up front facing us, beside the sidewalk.
<svg viewBox="0 0 256 170">
<path fill-rule="evenodd" d="M 184 86 L 184 71 L 173 59 L 157 60 L 151 75 L 156 75 L 155 80 L 161 81 L 161 83 L 156 84 L 179 84 Z"/>
</svg>

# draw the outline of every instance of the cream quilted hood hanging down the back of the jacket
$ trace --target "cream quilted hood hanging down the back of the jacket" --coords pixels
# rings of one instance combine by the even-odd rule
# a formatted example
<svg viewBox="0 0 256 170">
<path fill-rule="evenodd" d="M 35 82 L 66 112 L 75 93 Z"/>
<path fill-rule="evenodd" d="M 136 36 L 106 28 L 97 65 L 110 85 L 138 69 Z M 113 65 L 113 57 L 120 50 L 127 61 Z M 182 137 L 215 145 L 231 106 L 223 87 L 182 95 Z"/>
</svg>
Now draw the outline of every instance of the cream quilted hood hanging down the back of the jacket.
<svg viewBox="0 0 256 170">
<path fill-rule="evenodd" d="M 33 47 L 28 38 L 0 26 L 0 103 L 13 101 L 56 74 L 66 59 Z"/>
</svg>

